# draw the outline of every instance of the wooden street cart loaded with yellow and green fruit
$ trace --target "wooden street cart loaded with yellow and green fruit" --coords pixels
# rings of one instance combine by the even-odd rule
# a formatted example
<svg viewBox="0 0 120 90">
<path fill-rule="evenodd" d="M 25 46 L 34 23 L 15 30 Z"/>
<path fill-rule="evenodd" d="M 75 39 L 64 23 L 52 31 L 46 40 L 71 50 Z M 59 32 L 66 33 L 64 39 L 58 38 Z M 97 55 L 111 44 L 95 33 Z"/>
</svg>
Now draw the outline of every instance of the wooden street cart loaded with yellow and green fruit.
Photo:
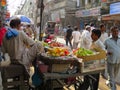
<svg viewBox="0 0 120 90">
<path fill-rule="evenodd" d="M 59 46 L 59 45 L 58 45 Z M 84 48 L 71 51 L 63 45 L 47 48 L 46 53 L 38 55 L 38 60 L 42 62 L 39 66 L 40 75 L 43 78 L 45 90 L 53 89 L 53 81 L 66 86 L 65 79 L 95 73 L 101 73 L 105 69 L 105 51 L 93 52 Z M 45 69 L 41 67 L 45 66 Z M 91 76 L 90 76 L 91 77 Z M 91 77 L 93 78 L 93 77 Z M 93 78 L 94 79 L 94 78 Z M 80 79 L 81 80 L 81 79 Z M 49 83 L 47 83 L 50 81 Z M 77 80 L 69 83 L 76 85 Z M 77 90 L 77 89 L 76 89 Z"/>
</svg>

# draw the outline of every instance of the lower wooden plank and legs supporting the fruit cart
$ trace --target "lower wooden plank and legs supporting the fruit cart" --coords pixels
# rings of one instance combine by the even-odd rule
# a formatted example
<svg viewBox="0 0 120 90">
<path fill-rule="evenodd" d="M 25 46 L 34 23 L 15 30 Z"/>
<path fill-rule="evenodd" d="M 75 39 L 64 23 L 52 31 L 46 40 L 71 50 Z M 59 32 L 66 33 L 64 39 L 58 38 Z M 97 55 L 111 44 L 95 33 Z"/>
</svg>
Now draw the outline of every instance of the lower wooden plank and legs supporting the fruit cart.
<svg viewBox="0 0 120 90">
<path fill-rule="evenodd" d="M 93 71 L 90 71 L 90 72 L 85 72 L 85 73 L 75 73 L 75 74 L 65 74 L 65 73 L 41 73 L 41 76 L 43 78 L 43 89 L 44 90 L 49 90 L 50 89 L 53 89 L 54 86 L 53 83 L 51 84 L 49 81 L 56 81 L 59 85 L 61 85 L 62 87 L 65 87 L 65 88 L 69 88 L 70 85 L 72 84 L 76 84 L 77 83 L 77 80 L 76 81 L 73 81 L 71 84 L 69 85 L 66 85 L 64 83 L 64 79 L 66 78 L 70 78 L 70 77 L 79 77 L 79 76 L 84 76 L 84 75 L 89 75 L 89 74 L 95 74 L 95 73 L 100 73 L 100 72 L 103 72 L 103 68 L 99 68 L 99 69 L 96 69 L 96 70 L 93 70 Z M 92 77 L 91 77 L 92 78 Z M 80 79 L 80 78 L 79 78 Z M 49 86 L 48 86 L 49 85 Z M 47 87 L 48 86 L 48 87 Z"/>
</svg>

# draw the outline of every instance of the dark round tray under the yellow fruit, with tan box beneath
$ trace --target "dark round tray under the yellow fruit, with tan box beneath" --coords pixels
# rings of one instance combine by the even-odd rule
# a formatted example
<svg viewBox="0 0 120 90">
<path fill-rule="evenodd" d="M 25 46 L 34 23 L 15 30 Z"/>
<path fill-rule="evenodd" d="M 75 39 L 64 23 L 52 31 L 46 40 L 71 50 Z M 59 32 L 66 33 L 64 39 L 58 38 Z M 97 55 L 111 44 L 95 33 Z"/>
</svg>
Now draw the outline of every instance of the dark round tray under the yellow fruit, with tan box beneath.
<svg viewBox="0 0 120 90">
<path fill-rule="evenodd" d="M 43 53 L 38 55 L 38 60 L 48 65 L 49 72 L 66 72 L 70 65 L 78 66 L 78 60 L 71 56 L 50 57 Z"/>
</svg>

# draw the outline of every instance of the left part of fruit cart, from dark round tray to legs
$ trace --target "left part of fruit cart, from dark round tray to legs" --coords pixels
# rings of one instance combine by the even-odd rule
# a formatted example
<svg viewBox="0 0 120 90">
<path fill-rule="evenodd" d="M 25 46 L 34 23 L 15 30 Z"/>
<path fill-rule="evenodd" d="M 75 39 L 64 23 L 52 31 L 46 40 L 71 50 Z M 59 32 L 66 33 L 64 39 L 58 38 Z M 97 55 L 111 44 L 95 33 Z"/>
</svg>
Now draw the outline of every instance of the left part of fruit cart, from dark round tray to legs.
<svg viewBox="0 0 120 90">
<path fill-rule="evenodd" d="M 64 79 L 70 77 L 70 74 L 74 74 L 80 71 L 79 67 L 77 67 L 79 66 L 79 62 L 76 58 L 72 56 L 49 57 L 44 53 L 38 56 L 38 60 L 42 61 L 44 63 L 44 66 L 47 65 L 47 69 L 45 69 L 44 71 L 41 70 L 42 67 L 39 67 L 41 76 L 44 80 L 44 87 L 47 87 L 46 90 L 62 87 Z M 70 69 L 71 67 L 73 68 Z M 61 79 L 60 77 L 59 79 L 57 79 L 57 77 L 54 76 L 57 74 L 61 75 Z M 69 76 L 63 78 L 64 74 Z"/>
</svg>

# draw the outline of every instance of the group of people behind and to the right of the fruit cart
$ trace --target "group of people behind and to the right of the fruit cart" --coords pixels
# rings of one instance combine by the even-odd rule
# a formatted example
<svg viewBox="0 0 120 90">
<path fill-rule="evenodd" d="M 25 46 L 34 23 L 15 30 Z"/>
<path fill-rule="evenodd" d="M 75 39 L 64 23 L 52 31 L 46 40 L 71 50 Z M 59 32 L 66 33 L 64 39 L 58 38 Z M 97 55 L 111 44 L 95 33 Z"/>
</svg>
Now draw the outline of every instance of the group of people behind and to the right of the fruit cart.
<svg viewBox="0 0 120 90">
<path fill-rule="evenodd" d="M 94 27 L 93 24 L 85 24 L 85 29 L 80 33 L 75 26 L 74 29 L 70 28 L 65 32 L 65 41 L 68 46 L 70 44 L 71 49 L 86 48 L 86 49 L 101 49 L 106 51 L 106 68 L 101 75 L 108 79 L 106 83 L 111 90 L 116 90 L 116 83 L 119 83 L 120 76 L 120 37 L 117 26 L 110 28 L 110 34 L 106 33 L 105 24 L 100 24 L 99 28 Z M 89 76 L 84 76 L 84 83 L 81 86 L 81 90 L 88 90 L 91 86 L 91 90 L 98 90 L 99 74 L 92 75 L 95 80 L 90 81 Z"/>
</svg>

